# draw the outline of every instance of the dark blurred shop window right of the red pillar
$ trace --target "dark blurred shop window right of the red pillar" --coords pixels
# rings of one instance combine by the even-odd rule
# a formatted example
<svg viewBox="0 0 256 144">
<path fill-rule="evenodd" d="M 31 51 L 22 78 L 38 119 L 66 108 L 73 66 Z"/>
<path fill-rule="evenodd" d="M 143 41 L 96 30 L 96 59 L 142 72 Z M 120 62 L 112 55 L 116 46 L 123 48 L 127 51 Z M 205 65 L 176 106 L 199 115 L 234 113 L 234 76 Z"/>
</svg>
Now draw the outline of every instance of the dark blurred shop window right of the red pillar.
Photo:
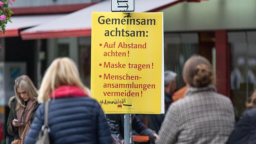
<svg viewBox="0 0 256 144">
<path fill-rule="evenodd" d="M 247 109 L 255 89 L 256 31 L 228 32 L 230 46 L 230 94 L 236 118 Z"/>
</svg>

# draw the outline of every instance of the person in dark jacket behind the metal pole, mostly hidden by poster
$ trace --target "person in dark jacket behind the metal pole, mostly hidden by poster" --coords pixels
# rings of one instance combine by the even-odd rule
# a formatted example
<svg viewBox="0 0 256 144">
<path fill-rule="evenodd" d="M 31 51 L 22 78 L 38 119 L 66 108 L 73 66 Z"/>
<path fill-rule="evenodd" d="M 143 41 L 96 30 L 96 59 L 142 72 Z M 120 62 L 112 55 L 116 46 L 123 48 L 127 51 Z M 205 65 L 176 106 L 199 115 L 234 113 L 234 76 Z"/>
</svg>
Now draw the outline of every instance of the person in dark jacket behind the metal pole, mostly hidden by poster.
<svg viewBox="0 0 256 144">
<path fill-rule="evenodd" d="M 111 128 L 111 134 L 118 136 L 119 140 L 124 139 L 124 114 L 106 114 L 106 118 Z M 132 114 L 132 130 L 139 135 L 149 136 L 149 141 L 154 142 L 158 135 L 155 131 L 147 128 Z"/>
</svg>

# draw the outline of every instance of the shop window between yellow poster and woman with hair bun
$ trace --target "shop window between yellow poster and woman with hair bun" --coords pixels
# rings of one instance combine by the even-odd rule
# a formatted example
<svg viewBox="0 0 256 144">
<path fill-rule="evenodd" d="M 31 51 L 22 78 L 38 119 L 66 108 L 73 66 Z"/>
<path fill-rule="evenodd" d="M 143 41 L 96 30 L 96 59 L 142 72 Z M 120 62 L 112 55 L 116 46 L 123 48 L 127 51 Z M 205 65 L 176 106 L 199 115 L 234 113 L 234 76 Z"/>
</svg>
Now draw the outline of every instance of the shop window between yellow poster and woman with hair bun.
<svg viewBox="0 0 256 144">
<path fill-rule="evenodd" d="M 185 61 L 193 54 L 199 54 L 197 33 L 164 35 L 164 70 L 177 73 L 177 88 L 185 86 L 182 70 Z"/>
</svg>

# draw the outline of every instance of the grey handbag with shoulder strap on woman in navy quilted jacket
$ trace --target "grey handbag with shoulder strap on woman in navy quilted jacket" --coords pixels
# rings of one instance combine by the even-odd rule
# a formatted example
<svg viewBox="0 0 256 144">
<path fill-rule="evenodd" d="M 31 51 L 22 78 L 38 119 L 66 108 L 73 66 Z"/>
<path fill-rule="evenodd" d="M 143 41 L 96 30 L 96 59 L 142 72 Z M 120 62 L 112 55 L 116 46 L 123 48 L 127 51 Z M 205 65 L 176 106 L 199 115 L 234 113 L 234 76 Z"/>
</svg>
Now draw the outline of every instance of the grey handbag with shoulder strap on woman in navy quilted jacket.
<svg viewBox="0 0 256 144">
<path fill-rule="evenodd" d="M 48 107 L 47 101 L 44 105 L 44 125 L 42 126 L 35 144 L 50 144 L 49 132 L 51 131 L 48 125 Z"/>
</svg>

